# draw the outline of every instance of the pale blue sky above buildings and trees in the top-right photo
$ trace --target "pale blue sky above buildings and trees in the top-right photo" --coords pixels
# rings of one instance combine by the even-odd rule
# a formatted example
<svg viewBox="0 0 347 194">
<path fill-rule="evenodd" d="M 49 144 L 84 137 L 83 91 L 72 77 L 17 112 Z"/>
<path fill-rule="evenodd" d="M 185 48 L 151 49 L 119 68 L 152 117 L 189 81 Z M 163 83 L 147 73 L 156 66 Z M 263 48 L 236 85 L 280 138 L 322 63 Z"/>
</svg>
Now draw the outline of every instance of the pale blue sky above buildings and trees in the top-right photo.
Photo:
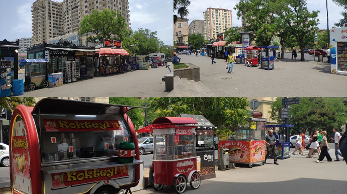
<svg viewBox="0 0 347 194">
<path fill-rule="evenodd" d="M 204 20 L 203 13 L 207 8 L 222 8 L 231 10 L 232 12 L 232 26 L 241 26 L 241 20 L 237 20 L 235 5 L 239 2 L 238 0 L 190 0 L 191 5 L 188 7 L 189 19 L 188 25 L 193 20 Z M 306 0 L 307 8 L 311 11 L 320 11 L 318 13 L 319 29 L 327 29 L 326 24 L 326 1 L 325 0 Z M 328 0 L 328 15 L 329 15 L 329 28 L 334 26 L 338 20 L 342 19 L 340 12 L 343 11 L 342 7 L 336 6 L 331 0 Z"/>
</svg>

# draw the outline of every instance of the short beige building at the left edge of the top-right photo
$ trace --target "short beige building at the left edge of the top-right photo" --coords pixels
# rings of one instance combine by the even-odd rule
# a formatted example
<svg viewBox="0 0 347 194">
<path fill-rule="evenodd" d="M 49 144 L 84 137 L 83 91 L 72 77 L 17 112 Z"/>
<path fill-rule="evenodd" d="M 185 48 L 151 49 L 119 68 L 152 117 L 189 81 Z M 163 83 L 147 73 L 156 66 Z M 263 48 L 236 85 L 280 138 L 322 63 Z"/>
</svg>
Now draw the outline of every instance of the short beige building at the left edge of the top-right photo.
<svg viewBox="0 0 347 194">
<path fill-rule="evenodd" d="M 188 44 L 188 19 L 179 18 L 176 24 L 173 24 L 173 41 Z"/>
</svg>

